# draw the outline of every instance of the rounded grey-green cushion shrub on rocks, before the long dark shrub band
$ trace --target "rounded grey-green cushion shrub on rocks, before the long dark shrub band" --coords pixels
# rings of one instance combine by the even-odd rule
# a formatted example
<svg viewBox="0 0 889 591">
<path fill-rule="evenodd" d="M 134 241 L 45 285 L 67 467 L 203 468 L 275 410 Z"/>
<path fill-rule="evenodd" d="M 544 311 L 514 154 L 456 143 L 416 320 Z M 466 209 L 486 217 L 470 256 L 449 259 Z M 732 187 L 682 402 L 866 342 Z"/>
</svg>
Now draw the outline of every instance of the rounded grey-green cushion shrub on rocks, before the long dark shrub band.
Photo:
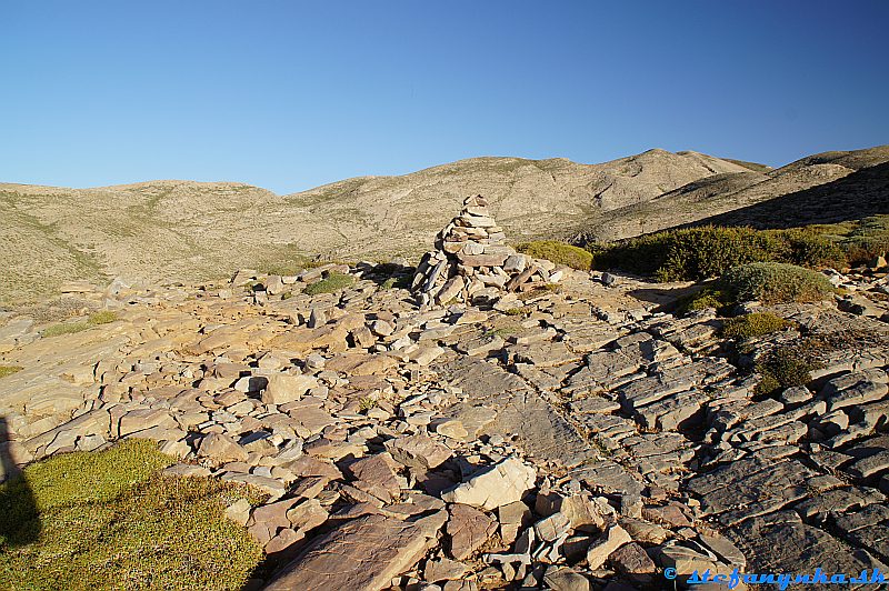
<svg viewBox="0 0 889 591">
<path fill-rule="evenodd" d="M 735 301 L 811 302 L 833 293 L 827 277 L 802 267 L 758 262 L 729 269 L 720 280 Z"/>
</svg>

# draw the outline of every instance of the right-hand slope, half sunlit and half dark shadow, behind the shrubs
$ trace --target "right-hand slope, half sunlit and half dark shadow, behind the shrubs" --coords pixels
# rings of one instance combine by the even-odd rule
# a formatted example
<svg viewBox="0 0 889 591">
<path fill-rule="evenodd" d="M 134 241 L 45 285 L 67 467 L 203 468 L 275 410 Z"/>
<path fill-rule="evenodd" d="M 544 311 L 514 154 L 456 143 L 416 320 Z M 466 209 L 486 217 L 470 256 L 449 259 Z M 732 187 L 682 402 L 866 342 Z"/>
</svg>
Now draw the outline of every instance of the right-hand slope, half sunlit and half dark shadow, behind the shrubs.
<svg viewBox="0 0 889 591">
<path fill-rule="evenodd" d="M 749 208 L 822 186 L 825 190 L 817 193 L 820 200 L 848 199 L 852 196 L 846 194 L 845 189 L 840 189 L 847 186 L 837 181 L 859 170 L 888 161 L 889 146 L 879 146 L 851 152 L 815 154 L 765 173 L 753 167 L 752 170 L 740 173 L 715 174 L 643 203 L 607 212 L 592 220 L 583 231 L 583 236 L 596 241 L 618 240 L 702 219 L 722 220 L 716 217 L 733 211 L 738 212 L 738 216 L 731 217 L 735 224 L 755 222 L 761 224 L 759 216 L 757 220 L 752 218 L 748 220 L 741 212 L 748 210 L 758 212 L 759 209 Z M 831 187 L 837 187 L 832 193 Z M 857 216 L 855 204 L 856 200 L 849 199 L 848 214 Z M 868 211 L 862 210 L 862 216 L 869 214 L 872 208 L 868 206 L 866 209 Z M 819 211 L 821 211 L 820 206 L 816 204 L 810 214 L 806 214 L 806 210 L 799 210 L 798 204 L 793 217 L 800 223 L 818 223 L 822 221 L 819 219 Z M 885 212 L 889 212 L 889 203 Z M 772 214 L 781 213 L 776 209 Z M 725 221 L 728 221 L 728 218 L 725 218 Z"/>
</svg>

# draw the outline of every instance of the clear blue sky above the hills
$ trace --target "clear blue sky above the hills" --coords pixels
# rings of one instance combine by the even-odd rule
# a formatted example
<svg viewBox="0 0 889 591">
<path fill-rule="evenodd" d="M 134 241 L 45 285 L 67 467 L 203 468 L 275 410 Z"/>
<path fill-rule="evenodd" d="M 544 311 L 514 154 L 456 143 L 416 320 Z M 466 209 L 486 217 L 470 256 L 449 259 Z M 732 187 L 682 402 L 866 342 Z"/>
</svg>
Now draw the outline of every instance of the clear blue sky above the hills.
<svg viewBox="0 0 889 591">
<path fill-rule="evenodd" d="M 0 2 L 0 181 L 889 143 L 889 2 Z"/>
</svg>

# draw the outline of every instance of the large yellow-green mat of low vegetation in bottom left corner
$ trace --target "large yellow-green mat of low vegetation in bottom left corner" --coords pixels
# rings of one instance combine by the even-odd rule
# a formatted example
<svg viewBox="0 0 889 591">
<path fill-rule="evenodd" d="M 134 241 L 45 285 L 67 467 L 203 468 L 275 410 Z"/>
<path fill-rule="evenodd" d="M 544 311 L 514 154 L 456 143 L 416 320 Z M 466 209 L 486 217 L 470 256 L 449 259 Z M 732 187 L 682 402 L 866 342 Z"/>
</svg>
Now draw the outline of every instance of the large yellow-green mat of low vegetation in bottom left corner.
<svg viewBox="0 0 889 591">
<path fill-rule="evenodd" d="M 240 589 L 262 549 L 224 509 L 253 489 L 164 477 L 147 440 L 57 455 L 0 484 L 2 589 Z"/>
</svg>

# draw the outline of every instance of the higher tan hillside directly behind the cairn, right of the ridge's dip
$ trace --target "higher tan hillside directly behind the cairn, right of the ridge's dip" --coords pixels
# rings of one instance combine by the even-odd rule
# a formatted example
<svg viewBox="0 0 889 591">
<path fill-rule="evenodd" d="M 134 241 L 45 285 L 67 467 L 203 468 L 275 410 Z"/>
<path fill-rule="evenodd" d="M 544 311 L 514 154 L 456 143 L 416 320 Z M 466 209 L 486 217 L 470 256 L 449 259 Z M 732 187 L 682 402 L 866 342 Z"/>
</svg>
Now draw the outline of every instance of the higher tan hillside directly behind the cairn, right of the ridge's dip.
<svg viewBox="0 0 889 591">
<path fill-rule="evenodd" d="M 314 223 L 310 250 L 330 251 L 333 246 L 340 254 L 419 252 L 467 194 L 486 196 L 507 236 L 518 241 L 571 236 L 603 211 L 711 174 L 743 170 L 706 154 L 663 150 L 602 164 L 475 158 L 403 177 L 351 179 L 287 199 L 326 222 Z"/>
</svg>

